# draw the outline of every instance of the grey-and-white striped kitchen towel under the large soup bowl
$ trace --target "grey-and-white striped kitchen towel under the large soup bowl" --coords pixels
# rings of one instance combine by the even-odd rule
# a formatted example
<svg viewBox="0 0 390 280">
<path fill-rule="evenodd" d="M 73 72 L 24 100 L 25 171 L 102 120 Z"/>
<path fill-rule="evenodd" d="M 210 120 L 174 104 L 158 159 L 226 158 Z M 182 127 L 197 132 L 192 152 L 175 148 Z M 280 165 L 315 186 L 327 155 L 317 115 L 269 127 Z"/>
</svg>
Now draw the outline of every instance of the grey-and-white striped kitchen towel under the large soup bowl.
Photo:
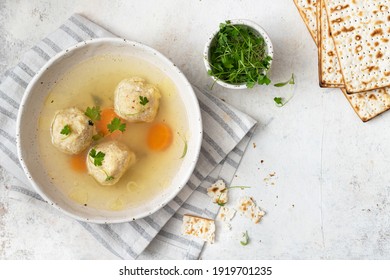
<svg viewBox="0 0 390 280">
<path fill-rule="evenodd" d="M 77 42 L 97 37 L 114 35 L 80 15 L 73 15 L 26 52 L 0 80 L 1 165 L 20 180 L 20 184 L 11 187 L 12 195 L 27 197 L 26 203 L 31 197 L 42 199 L 29 185 L 17 158 L 15 132 L 20 100 L 32 77 L 51 57 Z M 80 222 L 118 258 L 137 259 L 148 245 L 161 250 L 160 255 L 164 258 L 199 258 L 204 242 L 181 235 L 182 216 L 189 213 L 215 218 L 219 208 L 207 196 L 207 187 L 217 179 L 231 182 L 256 122 L 197 87 L 194 90 L 201 107 L 204 136 L 195 171 L 181 192 L 161 210 L 144 219 L 106 225 Z"/>
</svg>

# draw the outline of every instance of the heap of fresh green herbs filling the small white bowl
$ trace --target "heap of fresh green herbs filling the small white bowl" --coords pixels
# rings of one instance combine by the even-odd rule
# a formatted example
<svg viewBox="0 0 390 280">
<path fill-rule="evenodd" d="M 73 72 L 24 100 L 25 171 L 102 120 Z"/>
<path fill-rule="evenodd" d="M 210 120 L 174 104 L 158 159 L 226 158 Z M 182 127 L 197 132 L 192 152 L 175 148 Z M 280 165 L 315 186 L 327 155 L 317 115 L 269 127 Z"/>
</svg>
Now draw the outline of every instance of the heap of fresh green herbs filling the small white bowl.
<svg viewBox="0 0 390 280">
<path fill-rule="evenodd" d="M 272 58 L 267 55 L 264 38 L 245 25 L 230 21 L 220 24 L 210 46 L 209 75 L 230 84 L 268 85 Z"/>
</svg>

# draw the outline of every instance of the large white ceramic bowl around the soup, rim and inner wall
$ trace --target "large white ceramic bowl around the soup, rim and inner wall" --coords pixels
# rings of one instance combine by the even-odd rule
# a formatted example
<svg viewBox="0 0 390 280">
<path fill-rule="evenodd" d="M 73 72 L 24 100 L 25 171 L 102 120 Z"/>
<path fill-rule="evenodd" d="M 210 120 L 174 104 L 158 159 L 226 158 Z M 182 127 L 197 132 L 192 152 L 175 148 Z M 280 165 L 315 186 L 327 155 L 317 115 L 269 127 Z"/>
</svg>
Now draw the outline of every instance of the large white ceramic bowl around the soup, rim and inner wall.
<svg viewBox="0 0 390 280">
<path fill-rule="evenodd" d="M 50 87 L 78 63 L 98 55 L 133 56 L 159 68 L 177 87 L 188 118 L 191 136 L 187 154 L 172 184 L 156 198 L 136 208 L 121 211 L 97 210 L 83 207 L 65 196 L 49 180 L 40 157 L 38 143 L 38 121 Z M 202 142 L 202 119 L 196 95 L 183 73 L 158 51 L 137 42 L 119 38 L 92 39 L 81 42 L 52 58 L 28 85 L 23 96 L 17 120 L 17 149 L 21 165 L 44 200 L 67 215 L 86 222 L 120 223 L 148 216 L 159 210 L 189 180 L 198 160 Z"/>
</svg>

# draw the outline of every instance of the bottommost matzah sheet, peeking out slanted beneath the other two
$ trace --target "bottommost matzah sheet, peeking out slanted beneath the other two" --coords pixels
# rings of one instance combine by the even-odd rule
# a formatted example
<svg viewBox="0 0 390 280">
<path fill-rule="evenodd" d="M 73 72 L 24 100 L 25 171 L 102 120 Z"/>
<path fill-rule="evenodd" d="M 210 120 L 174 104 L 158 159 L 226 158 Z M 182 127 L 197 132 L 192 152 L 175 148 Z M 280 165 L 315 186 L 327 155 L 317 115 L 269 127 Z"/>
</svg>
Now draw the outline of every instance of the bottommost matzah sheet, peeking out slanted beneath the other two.
<svg viewBox="0 0 390 280">
<path fill-rule="evenodd" d="M 316 6 L 312 5 L 312 7 L 316 7 Z M 299 10 L 298 6 L 297 8 Z M 299 12 L 304 13 L 305 10 L 299 10 Z M 302 17 L 302 18 L 305 19 L 307 17 Z M 306 26 L 308 27 L 310 33 L 317 34 L 316 26 L 315 26 L 316 29 L 311 29 L 313 28 L 312 25 L 306 24 Z M 317 42 L 315 41 L 315 43 Z M 358 117 L 362 121 L 366 122 L 390 109 L 389 90 L 390 87 L 386 87 L 384 89 L 362 92 L 359 93 L 358 95 L 356 94 L 349 95 L 345 91 L 343 90 L 341 91 L 349 101 L 350 105 L 352 106 L 353 110 L 358 115 Z M 373 98 L 372 94 L 374 94 L 376 98 Z"/>
</svg>

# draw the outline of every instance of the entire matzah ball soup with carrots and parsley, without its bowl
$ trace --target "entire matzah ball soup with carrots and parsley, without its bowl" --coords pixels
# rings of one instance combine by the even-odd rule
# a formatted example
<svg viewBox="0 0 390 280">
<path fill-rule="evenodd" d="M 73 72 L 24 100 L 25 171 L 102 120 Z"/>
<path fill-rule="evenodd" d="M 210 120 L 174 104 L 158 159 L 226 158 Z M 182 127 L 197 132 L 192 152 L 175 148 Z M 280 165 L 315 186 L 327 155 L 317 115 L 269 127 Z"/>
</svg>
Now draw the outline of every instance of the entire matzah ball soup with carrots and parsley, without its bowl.
<svg viewBox="0 0 390 280">
<path fill-rule="evenodd" d="M 51 89 L 39 124 L 41 156 L 69 198 L 121 210 L 169 186 L 185 154 L 187 125 L 162 71 L 133 57 L 99 56 Z"/>
</svg>

